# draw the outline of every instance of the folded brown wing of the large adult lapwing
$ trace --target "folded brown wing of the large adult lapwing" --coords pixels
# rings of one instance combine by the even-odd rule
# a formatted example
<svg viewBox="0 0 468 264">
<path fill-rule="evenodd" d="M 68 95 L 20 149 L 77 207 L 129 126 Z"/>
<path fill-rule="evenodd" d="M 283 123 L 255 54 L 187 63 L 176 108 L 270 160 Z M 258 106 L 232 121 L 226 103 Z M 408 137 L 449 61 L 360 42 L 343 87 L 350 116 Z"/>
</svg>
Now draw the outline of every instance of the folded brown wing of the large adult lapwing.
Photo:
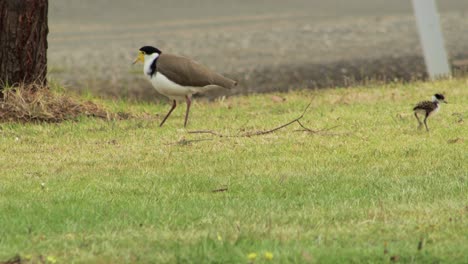
<svg viewBox="0 0 468 264">
<path fill-rule="evenodd" d="M 231 88 L 237 84 L 193 60 L 176 55 L 162 53 L 158 58 L 157 67 L 158 72 L 182 86 L 218 85 Z"/>
</svg>

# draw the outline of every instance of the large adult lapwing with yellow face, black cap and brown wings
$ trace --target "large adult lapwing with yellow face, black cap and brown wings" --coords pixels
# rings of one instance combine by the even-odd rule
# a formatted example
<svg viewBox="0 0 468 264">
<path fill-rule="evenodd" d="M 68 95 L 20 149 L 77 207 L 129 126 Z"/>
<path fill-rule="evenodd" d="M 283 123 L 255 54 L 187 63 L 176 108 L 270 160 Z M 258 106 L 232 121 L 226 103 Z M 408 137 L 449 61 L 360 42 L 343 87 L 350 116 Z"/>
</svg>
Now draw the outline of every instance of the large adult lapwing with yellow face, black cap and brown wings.
<svg viewBox="0 0 468 264">
<path fill-rule="evenodd" d="M 166 54 L 151 46 L 140 49 L 133 62 L 143 62 L 143 73 L 160 94 L 172 100 L 172 107 L 159 126 L 162 126 L 177 106 L 178 100 L 187 102 L 184 127 L 187 126 L 192 95 L 211 88 L 230 89 L 236 81 L 226 78 L 207 67 L 185 57 Z"/>
</svg>

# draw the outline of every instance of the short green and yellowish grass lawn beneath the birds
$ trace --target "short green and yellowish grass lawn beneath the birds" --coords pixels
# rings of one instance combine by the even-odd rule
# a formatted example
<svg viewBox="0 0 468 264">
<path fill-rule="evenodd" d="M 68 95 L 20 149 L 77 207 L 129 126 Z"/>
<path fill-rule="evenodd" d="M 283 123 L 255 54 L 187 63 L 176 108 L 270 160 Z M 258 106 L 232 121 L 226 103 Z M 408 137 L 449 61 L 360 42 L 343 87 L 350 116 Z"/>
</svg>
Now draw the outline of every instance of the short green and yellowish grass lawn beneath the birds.
<svg viewBox="0 0 468 264">
<path fill-rule="evenodd" d="M 160 128 L 169 105 L 111 101 L 137 117 L 0 124 L 0 262 L 467 263 L 467 86 L 199 101 L 187 129 L 184 106 Z M 435 92 L 449 104 L 417 130 Z M 271 129 L 309 103 L 304 126 L 330 130 L 188 133 Z"/>
</svg>

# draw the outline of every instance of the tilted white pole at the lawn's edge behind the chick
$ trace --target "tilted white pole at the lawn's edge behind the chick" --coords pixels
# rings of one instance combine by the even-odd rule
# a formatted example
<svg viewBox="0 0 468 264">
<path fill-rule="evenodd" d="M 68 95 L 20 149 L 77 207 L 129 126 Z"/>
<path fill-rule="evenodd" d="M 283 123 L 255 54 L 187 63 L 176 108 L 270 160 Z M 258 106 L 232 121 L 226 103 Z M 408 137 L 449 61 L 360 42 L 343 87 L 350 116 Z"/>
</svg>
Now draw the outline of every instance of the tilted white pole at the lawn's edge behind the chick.
<svg viewBox="0 0 468 264">
<path fill-rule="evenodd" d="M 413 8 L 429 77 L 450 76 L 435 0 L 413 0 Z"/>
</svg>

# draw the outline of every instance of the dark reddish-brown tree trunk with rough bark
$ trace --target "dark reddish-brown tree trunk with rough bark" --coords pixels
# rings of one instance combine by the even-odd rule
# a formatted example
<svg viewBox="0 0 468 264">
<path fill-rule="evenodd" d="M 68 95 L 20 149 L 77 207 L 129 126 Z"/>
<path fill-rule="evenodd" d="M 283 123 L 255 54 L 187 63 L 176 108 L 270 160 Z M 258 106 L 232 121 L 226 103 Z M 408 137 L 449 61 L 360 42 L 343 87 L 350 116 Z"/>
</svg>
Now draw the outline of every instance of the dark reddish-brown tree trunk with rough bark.
<svg viewBox="0 0 468 264">
<path fill-rule="evenodd" d="M 0 0 L 0 91 L 47 85 L 47 10 L 48 0 Z"/>
</svg>

